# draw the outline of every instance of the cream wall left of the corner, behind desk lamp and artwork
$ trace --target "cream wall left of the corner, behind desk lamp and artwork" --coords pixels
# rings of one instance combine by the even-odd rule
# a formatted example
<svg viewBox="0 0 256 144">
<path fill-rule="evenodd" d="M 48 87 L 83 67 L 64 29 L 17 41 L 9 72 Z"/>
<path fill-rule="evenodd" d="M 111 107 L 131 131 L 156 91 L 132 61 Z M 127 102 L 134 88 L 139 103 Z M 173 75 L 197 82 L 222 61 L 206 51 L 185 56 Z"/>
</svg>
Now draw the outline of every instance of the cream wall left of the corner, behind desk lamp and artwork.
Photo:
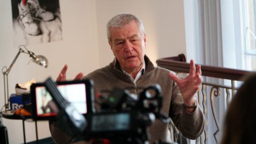
<svg viewBox="0 0 256 144">
<path fill-rule="evenodd" d="M 31 62 L 27 54 L 21 53 L 9 74 L 9 91 L 15 93 L 15 84 L 21 84 L 35 78 L 37 82 L 44 82 L 51 76 L 56 79 L 60 70 L 68 64 L 67 78 L 73 79 L 78 73 L 90 73 L 99 68 L 99 51 L 97 39 L 97 23 L 95 1 L 76 0 L 60 1 L 62 19 L 62 41 L 29 45 L 27 49 L 35 54 L 44 55 L 49 60 L 47 69 Z M 14 47 L 11 1 L 0 2 L 0 68 L 11 65 L 18 53 Z M 0 106 L 4 105 L 3 76 L 0 76 Z M 9 143 L 23 143 L 22 121 L 3 118 L 3 123 L 9 133 Z M 34 141 L 35 123 L 26 122 L 26 140 Z M 50 137 L 49 126 L 46 121 L 38 122 L 38 138 Z"/>
</svg>

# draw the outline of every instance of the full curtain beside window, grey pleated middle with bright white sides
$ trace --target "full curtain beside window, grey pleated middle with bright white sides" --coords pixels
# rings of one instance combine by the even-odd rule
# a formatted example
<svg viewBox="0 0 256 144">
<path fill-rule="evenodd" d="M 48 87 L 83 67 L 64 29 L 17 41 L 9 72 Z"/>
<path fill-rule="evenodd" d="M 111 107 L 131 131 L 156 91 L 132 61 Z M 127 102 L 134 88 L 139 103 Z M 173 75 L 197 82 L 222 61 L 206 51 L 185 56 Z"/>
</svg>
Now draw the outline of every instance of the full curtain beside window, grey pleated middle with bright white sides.
<svg viewBox="0 0 256 144">
<path fill-rule="evenodd" d="M 188 60 L 195 59 L 196 63 L 202 65 L 240 69 L 242 67 L 242 43 L 239 30 L 241 29 L 239 1 L 196 0 L 191 2 L 184 0 L 184 5 Z M 193 20 L 191 20 L 191 13 L 194 13 Z M 203 79 L 204 82 L 231 85 L 230 81 L 223 79 L 209 77 L 203 77 Z M 215 126 L 211 111 L 210 90 L 211 87 L 206 87 L 208 143 L 216 143 L 213 134 L 217 131 L 217 126 Z M 221 95 L 214 98 L 220 126 L 220 132 L 217 134 L 218 141 L 221 139 L 222 123 L 226 111 L 225 93 L 221 89 Z"/>
</svg>

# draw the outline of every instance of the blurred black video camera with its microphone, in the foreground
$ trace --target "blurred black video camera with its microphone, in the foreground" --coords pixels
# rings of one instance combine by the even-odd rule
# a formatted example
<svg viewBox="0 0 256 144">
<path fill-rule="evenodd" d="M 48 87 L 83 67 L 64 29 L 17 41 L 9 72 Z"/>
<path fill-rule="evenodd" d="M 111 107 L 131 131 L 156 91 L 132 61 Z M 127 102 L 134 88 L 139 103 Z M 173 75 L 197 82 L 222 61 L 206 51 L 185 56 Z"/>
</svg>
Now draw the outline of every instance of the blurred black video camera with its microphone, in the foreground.
<svg viewBox="0 0 256 144">
<path fill-rule="evenodd" d="M 58 107 L 58 115 L 54 117 L 57 125 L 61 126 L 70 136 L 82 135 L 84 140 L 91 143 L 148 143 L 150 134 L 148 127 L 160 119 L 169 123 L 170 119 L 161 112 L 162 90 L 158 84 L 150 85 L 140 93 L 139 99 L 134 99 L 134 94 L 128 90 L 115 88 L 108 97 L 103 94 L 97 96 L 104 102 L 98 113 L 94 111 L 93 82 L 86 81 L 86 114 L 79 113 L 79 107 L 72 102 L 67 102 L 57 89 L 57 84 L 48 78 L 43 86 L 50 93 L 52 100 Z M 33 86 L 31 86 L 33 87 Z M 34 87 L 35 88 L 35 87 Z M 153 91 L 151 95 L 149 91 Z M 31 89 L 32 99 L 36 99 L 36 91 Z M 91 97 L 91 98 L 89 98 Z M 90 100 L 90 101 L 88 101 Z M 148 103 L 146 100 L 154 100 Z M 33 100 L 35 102 L 35 100 Z M 89 103 L 91 102 L 91 105 Z M 33 111 L 38 106 L 33 106 L 33 119 L 38 120 L 38 114 Z M 51 118 L 52 119 L 52 118 Z M 166 143 L 158 141 L 155 143 Z"/>
</svg>

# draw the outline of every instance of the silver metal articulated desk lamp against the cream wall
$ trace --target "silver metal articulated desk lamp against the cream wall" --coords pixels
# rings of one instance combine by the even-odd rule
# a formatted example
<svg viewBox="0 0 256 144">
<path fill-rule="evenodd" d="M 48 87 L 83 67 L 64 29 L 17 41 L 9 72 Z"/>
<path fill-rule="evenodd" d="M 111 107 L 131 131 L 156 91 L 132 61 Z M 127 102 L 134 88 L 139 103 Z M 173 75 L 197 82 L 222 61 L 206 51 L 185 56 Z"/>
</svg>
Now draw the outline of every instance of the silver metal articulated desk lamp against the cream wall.
<svg viewBox="0 0 256 144">
<path fill-rule="evenodd" d="M 25 49 L 27 50 L 27 52 L 24 51 L 24 50 L 22 50 L 22 47 L 25 47 Z M 3 69 L 2 69 L 2 73 L 4 74 L 4 103 L 5 103 L 5 104 L 4 104 L 4 107 L 5 107 L 5 111 L 6 111 L 6 109 L 9 108 L 8 74 L 10 73 L 10 70 L 12 69 L 12 67 L 13 67 L 15 61 L 17 60 L 17 58 L 19 57 L 20 53 L 27 53 L 27 54 L 29 55 L 29 57 L 32 58 L 31 60 L 33 60 L 33 62 L 37 63 L 38 65 L 40 65 L 40 66 L 42 66 L 42 67 L 47 68 L 47 66 L 48 66 L 48 60 L 47 60 L 43 55 L 35 55 L 34 52 L 28 51 L 28 49 L 26 48 L 26 46 L 24 46 L 24 45 L 20 45 L 20 46 L 19 46 L 19 52 L 18 52 L 18 54 L 16 55 L 16 57 L 14 58 L 14 60 L 12 61 L 11 66 L 10 66 L 8 69 L 7 69 L 6 66 L 4 66 Z M 31 61 L 31 60 L 30 60 L 30 61 Z M 30 62 L 30 61 L 29 61 L 29 62 Z M 27 65 L 27 66 L 28 66 L 28 65 Z M 4 68 L 6 69 L 6 71 L 3 71 Z M 5 78 L 6 78 L 6 81 L 5 81 Z M 7 87 L 7 89 L 6 89 L 6 87 Z M 7 103 L 6 103 L 6 90 L 7 90 Z M 3 108 L 4 108 L 4 107 L 3 107 Z M 3 109 L 3 108 L 2 108 L 2 109 Z M 2 109 L 1 109 L 1 111 L 2 111 Z"/>
</svg>

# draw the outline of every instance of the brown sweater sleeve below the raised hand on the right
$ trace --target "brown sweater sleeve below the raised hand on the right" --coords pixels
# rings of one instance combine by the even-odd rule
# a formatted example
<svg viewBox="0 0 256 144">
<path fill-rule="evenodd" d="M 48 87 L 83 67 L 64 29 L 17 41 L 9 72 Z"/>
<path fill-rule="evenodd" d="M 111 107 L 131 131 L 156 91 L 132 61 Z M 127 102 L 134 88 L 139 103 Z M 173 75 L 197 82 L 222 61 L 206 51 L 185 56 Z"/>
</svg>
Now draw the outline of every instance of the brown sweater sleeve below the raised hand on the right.
<svg viewBox="0 0 256 144">
<path fill-rule="evenodd" d="M 169 116 L 177 129 L 188 139 L 195 140 L 204 131 L 205 124 L 202 109 L 197 105 L 194 113 L 188 113 L 182 104 L 182 95 L 175 82 L 173 82 Z"/>
</svg>

